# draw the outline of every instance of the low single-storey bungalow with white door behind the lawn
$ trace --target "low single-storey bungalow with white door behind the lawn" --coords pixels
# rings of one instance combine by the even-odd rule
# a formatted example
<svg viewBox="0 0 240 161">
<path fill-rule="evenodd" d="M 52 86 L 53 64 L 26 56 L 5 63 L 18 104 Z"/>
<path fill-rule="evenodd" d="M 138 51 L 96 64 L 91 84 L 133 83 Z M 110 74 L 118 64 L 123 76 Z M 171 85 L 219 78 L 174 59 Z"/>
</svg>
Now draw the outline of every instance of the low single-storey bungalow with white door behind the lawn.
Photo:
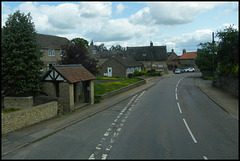
<svg viewBox="0 0 240 161">
<path fill-rule="evenodd" d="M 142 64 L 131 57 L 114 55 L 106 60 L 99 68 L 100 75 L 108 77 L 128 77 L 134 70 L 141 71 Z"/>
</svg>

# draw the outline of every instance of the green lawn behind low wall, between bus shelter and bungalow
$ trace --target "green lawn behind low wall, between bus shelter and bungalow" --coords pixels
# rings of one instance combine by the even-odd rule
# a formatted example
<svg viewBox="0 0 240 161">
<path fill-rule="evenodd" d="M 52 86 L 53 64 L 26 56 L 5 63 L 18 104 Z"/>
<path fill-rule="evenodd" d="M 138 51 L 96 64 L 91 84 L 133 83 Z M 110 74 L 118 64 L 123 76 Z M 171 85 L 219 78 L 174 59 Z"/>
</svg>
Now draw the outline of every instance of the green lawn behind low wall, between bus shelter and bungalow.
<svg viewBox="0 0 240 161">
<path fill-rule="evenodd" d="M 103 78 L 99 78 L 103 79 Z M 99 84 L 94 84 L 94 94 L 95 95 L 103 95 L 105 93 L 114 91 L 116 89 L 128 86 L 130 84 L 133 84 L 135 82 L 140 81 L 137 78 L 109 78 L 109 77 L 104 77 L 104 79 L 107 80 L 118 80 L 119 82 L 107 82 L 107 83 L 99 83 Z"/>
</svg>

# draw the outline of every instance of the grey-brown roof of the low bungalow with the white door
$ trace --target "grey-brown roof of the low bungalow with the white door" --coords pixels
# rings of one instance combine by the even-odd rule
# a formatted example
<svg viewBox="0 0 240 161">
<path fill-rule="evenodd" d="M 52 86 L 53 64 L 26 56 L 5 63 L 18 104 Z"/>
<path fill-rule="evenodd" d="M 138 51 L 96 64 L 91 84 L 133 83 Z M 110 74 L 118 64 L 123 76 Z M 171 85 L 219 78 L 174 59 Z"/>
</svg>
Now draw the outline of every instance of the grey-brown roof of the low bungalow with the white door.
<svg viewBox="0 0 240 161">
<path fill-rule="evenodd" d="M 119 63 L 123 64 L 125 67 L 140 67 L 141 63 L 137 62 L 131 57 L 122 57 L 120 55 L 114 55 L 111 59 L 117 60 Z"/>
</svg>

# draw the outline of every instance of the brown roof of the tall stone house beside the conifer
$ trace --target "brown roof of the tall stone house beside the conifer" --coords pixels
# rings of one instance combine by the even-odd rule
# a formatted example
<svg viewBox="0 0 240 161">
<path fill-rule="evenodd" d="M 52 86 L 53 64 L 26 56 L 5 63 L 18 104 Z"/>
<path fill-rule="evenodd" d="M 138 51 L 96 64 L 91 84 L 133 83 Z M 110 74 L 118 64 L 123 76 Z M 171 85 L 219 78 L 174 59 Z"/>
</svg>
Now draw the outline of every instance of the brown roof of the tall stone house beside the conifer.
<svg viewBox="0 0 240 161">
<path fill-rule="evenodd" d="M 63 45 L 67 45 L 70 41 L 65 37 L 53 35 L 37 34 L 37 41 L 42 48 L 61 49 Z"/>
</svg>

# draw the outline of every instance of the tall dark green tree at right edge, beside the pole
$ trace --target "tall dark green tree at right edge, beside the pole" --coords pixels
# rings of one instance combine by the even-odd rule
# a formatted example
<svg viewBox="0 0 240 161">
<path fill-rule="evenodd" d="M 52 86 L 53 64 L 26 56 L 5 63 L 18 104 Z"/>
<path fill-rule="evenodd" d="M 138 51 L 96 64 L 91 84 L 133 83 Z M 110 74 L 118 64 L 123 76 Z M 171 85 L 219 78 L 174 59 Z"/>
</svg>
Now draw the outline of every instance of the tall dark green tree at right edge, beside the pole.
<svg viewBox="0 0 240 161">
<path fill-rule="evenodd" d="M 239 68 L 239 31 L 233 26 L 217 32 L 220 39 L 218 45 L 219 67 L 218 74 L 238 76 Z"/>
</svg>

